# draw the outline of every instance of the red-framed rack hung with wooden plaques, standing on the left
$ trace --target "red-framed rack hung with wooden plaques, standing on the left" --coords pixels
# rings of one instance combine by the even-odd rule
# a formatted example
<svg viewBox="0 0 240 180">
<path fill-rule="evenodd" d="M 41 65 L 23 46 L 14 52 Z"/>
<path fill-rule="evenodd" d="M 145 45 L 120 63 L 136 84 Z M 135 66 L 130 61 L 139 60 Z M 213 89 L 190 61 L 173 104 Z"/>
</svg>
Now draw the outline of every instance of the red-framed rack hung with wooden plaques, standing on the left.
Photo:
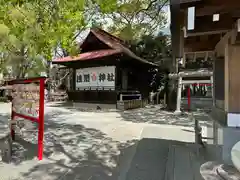
<svg viewBox="0 0 240 180">
<path fill-rule="evenodd" d="M 43 156 L 44 77 L 10 81 L 12 85 L 11 134 L 15 139 L 14 124 L 20 120 L 38 124 L 38 159 Z M 16 122 L 15 122 L 16 121 Z"/>
</svg>

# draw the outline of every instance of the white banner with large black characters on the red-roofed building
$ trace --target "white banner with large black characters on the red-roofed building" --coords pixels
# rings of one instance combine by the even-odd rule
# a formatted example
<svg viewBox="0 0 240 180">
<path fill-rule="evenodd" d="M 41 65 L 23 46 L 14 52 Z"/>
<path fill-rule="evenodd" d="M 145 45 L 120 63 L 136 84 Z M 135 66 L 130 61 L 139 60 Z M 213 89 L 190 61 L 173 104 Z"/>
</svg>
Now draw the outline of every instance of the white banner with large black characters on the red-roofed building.
<svg viewBox="0 0 240 180">
<path fill-rule="evenodd" d="M 114 90 L 115 66 L 76 70 L 76 90 Z"/>
</svg>

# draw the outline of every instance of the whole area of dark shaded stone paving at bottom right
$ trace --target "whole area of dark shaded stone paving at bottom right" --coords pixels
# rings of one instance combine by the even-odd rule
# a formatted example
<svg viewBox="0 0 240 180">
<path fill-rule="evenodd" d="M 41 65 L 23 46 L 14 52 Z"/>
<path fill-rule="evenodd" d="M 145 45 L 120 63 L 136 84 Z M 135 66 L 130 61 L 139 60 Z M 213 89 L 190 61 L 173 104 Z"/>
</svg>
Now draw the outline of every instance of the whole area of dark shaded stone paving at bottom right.
<svg viewBox="0 0 240 180">
<path fill-rule="evenodd" d="M 217 160 L 215 147 L 196 152 L 194 143 L 142 139 L 132 160 L 126 180 L 203 180 L 200 167 Z"/>
</svg>

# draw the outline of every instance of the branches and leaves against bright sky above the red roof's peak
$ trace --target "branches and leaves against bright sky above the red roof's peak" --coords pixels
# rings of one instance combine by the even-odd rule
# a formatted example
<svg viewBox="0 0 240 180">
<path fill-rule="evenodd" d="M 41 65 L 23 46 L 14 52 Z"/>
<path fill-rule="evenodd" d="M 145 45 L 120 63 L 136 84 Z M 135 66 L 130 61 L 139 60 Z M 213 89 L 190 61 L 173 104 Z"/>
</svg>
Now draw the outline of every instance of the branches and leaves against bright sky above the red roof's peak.
<svg viewBox="0 0 240 180">
<path fill-rule="evenodd" d="M 110 22 L 108 30 L 124 40 L 135 40 L 143 35 L 152 35 L 166 23 L 162 8 L 168 0 L 121 0 L 117 10 L 105 13 Z"/>
</svg>

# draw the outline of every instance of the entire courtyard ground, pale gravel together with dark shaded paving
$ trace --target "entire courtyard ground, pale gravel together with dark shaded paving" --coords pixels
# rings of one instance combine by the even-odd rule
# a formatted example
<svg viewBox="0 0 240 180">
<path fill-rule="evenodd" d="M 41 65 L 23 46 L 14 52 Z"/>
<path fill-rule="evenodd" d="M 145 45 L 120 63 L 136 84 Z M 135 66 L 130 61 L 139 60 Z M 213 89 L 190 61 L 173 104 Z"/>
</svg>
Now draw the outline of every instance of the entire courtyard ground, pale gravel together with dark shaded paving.
<svg viewBox="0 0 240 180">
<path fill-rule="evenodd" d="M 0 118 L 7 118 L 9 109 L 0 104 Z M 188 168 L 195 158 L 193 124 L 174 118 L 159 108 L 120 113 L 47 106 L 44 160 L 36 159 L 36 133 L 26 132 L 14 143 L 13 162 L 0 162 L 0 179 L 183 180 L 181 172 L 194 174 Z M 172 171 L 176 177 L 170 177 Z"/>
</svg>

